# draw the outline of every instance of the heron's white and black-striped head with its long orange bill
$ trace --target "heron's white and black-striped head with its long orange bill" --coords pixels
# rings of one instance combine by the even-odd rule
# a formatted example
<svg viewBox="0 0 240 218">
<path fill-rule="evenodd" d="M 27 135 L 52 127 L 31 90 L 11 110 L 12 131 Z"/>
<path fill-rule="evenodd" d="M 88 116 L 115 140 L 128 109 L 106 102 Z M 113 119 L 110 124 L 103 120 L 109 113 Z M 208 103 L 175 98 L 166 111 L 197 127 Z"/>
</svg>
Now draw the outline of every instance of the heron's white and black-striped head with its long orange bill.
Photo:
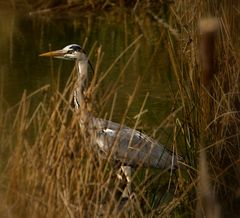
<svg viewBox="0 0 240 218">
<path fill-rule="evenodd" d="M 77 44 L 71 44 L 61 50 L 50 51 L 40 54 L 41 57 L 55 57 L 64 60 L 87 61 L 87 55 L 84 50 Z"/>
</svg>

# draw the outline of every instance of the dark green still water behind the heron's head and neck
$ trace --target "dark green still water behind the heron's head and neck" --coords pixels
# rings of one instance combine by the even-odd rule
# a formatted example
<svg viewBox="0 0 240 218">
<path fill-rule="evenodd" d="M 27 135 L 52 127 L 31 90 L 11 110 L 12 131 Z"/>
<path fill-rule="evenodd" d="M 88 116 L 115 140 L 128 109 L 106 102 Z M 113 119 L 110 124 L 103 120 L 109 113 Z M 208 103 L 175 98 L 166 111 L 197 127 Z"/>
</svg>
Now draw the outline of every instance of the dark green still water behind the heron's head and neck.
<svg viewBox="0 0 240 218">
<path fill-rule="evenodd" d="M 133 118 L 139 113 L 147 93 L 149 97 L 145 109 L 148 112 L 141 119 L 145 131 L 151 134 L 170 113 L 175 94 L 166 51 L 167 34 L 150 17 L 143 17 L 139 22 L 133 14 L 124 11 L 81 13 L 75 16 L 29 16 L 28 12 L 4 8 L 0 14 L 1 104 L 4 107 L 17 103 L 24 90 L 31 93 L 46 84 L 51 85 L 52 71 L 54 75 L 60 72 L 60 85 L 64 87 L 74 64 L 38 57 L 39 53 L 48 51 L 50 47 L 60 49 L 68 44 L 83 45 L 86 42 L 85 50 L 90 52 L 95 45 L 90 58 L 93 65 L 96 62 L 95 51 L 101 47 L 104 55 L 99 72 L 103 74 L 134 40 L 140 38 L 101 83 L 98 99 L 114 84 L 138 47 L 119 81 L 112 119 L 121 120 L 138 78 L 142 82 L 127 114 L 128 125 L 134 124 Z M 112 100 L 108 99 L 103 105 L 102 114 L 110 113 Z M 157 132 L 157 135 L 164 134 L 164 138 L 170 137 L 164 129 Z"/>
</svg>

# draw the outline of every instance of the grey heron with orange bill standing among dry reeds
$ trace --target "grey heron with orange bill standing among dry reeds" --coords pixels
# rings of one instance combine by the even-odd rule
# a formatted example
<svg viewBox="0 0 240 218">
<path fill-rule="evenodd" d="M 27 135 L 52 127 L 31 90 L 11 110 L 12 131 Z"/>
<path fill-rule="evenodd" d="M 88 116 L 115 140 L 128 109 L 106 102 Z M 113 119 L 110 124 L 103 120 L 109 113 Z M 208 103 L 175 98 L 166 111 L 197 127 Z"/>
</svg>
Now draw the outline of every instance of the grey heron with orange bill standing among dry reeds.
<svg viewBox="0 0 240 218">
<path fill-rule="evenodd" d="M 130 167 L 142 166 L 169 170 L 178 166 L 179 156 L 154 139 L 127 126 L 96 118 L 87 111 L 85 84 L 89 77 L 89 60 L 79 45 L 71 44 L 61 50 L 50 51 L 40 56 L 75 61 L 77 80 L 74 89 L 74 104 L 75 108 L 82 112 L 80 127 L 83 131 L 88 131 L 92 146 L 96 146 L 99 152 L 106 156 L 111 153 L 114 160 L 128 166 L 128 168 L 123 168 L 123 171 L 129 183 L 131 182 Z"/>
</svg>

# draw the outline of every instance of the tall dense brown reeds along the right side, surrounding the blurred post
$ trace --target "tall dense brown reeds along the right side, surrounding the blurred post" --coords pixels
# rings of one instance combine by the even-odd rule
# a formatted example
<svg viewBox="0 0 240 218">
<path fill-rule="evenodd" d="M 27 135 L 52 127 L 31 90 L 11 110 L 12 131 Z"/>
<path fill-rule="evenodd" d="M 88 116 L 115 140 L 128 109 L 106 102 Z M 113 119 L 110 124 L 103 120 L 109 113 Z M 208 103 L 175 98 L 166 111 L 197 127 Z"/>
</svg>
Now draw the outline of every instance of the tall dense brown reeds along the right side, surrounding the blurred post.
<svg viewBox="0 0 240 218">
<path fill-rule="evenodd" d="M 238 217 L 239 26 L 234 8 L 239 4 L 195 1 L 188 10 L 189 3 L 178 5 L 182 16 L 173 9 L 185 41 L 177 49 L 170 43 L 169 51 L 183 105 L 181 126 L 189 163 L 199 167 L 197 215 Z M 214 16 L 217 24 L 213 30 L 209 29 L 210 20 L 200 29 L 203 18 Z M 208 198 L 212 203 L 208 204 Z M 209 215 L 211 209 L 214 216 Z"/>
</svg>

